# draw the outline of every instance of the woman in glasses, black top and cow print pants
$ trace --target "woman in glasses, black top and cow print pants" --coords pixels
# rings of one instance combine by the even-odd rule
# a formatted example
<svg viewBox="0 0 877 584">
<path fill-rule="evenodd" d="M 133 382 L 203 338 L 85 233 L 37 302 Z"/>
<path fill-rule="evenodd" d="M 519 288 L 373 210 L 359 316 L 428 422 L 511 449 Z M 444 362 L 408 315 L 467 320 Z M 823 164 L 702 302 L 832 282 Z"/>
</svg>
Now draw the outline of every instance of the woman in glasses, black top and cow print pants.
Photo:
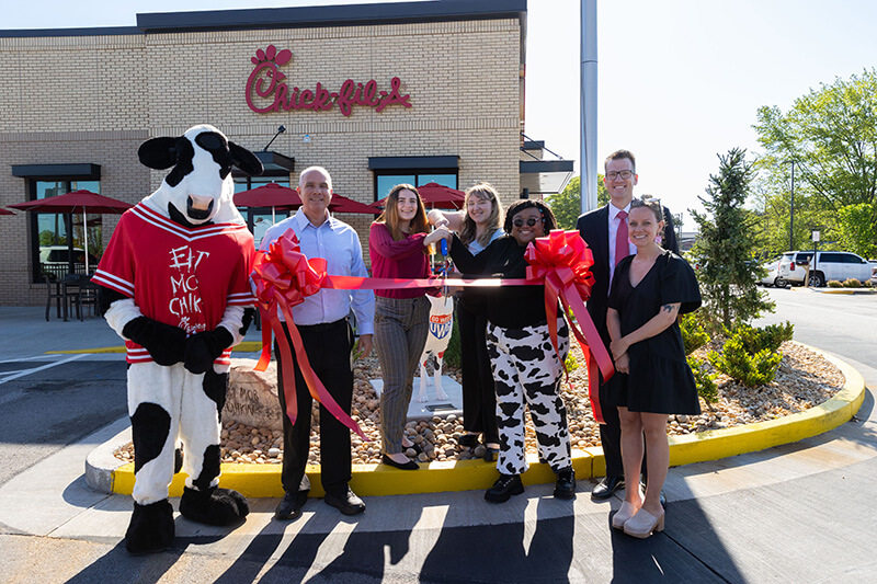
<svg viewBox="0 0 877 584">
<path fill-rule="evenodd" d="M 474 256 L 454 237 L 451 255 L 466 275 L 506 278 L 526 276 L 527 244 L 556 227 L 551 209 L 540 201 L 513 203 L 505 214 L 506 236 Z M 524 492 L 521 473 L 528 468 L 524 449 L 524 411 L 529 408 L 540 458 L 557 474 L 555 496 L 574 499 L 576 473 L 570 456 L 567 411 L 560 399 L 560 380 L 569 352 L 569 329 L 558 317 L 560 358 L 548 333 L 544 286 L 503 286 L 486 304 L 487 344 L 497 390 L 500 478 L 485 499 L 502 503 Z M 562 311 L 558 311 L 562 314 Z"/>
</svg>

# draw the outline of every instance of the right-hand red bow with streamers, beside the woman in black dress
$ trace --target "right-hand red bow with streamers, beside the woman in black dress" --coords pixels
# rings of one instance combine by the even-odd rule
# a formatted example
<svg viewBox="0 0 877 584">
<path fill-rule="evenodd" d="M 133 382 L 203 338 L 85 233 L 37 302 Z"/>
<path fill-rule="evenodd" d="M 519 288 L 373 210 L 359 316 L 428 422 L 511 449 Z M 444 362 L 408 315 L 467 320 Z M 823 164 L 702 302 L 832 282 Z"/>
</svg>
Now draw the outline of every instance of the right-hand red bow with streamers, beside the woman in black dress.
<svg viewBox="0 0 877 584">
<path fill-rule="evenodd" d="M 556 229 L 548 237 L 532 241 L 524 257 L 529 264 L 527 280 L 534 284 L 545 283 L 545 314 L 548 318 L 548 331 L 558 358 L 560 358 L 557 343 L 558 299 L 567 312 L 572 309 L 576 316 L 578 324 L 570 322 L 569 325 L 579 341 L 588 366 L 588 398 L 591 400 L 594 419 L 597 423 L 605 424 L 600 408 L 597 368 L 603 374 L 605 382 L 615 374 L 615 367 L 594 327 L 594 321 L 591 320 L 591 314 L 584 307 L 584 301 L 590 298 L 591 286 L 594 284 L 594 276 L 591 274 L 594 255 L 578 231 Z"/>
</svg>

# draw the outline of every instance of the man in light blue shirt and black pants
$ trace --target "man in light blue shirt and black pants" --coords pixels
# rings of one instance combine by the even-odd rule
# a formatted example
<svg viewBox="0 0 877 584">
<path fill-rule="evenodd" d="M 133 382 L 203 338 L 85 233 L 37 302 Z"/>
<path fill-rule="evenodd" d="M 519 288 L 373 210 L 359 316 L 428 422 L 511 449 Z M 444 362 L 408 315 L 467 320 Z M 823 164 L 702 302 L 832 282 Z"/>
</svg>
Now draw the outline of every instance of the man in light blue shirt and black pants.
<svg viewBox="0 0 877 584">
<path fill-rule="evenodd" d="M 305 169 L 296 190 L 301 197 L 301 208 L 287 219 L 265 232 L 261 249 L 267 250 L 288 229 L 293 229 L 301 245 L 301 253 L 308 257 L 323 257 L 327 273 L 340 276 L 368 276 L 363 262 L 360 238 L 352 227 L 329 216 L 332 201 L 332 179 L 321 167 Z M 331 393 L 338 404 L 351 412 L 353 399 L 353 331 L 348 321 L 351 309 L 356 317 L 360 333 L 358 357 L 372 352 L 372 334 L 375 320 L 375 295 L 372 290 L 321 289 L 305 301 L 293 307 L 293 319 L 301 334 L 308 360 L 317 377 Z M 281 316 L 281 318 L 283 318 Z M 284 333 L 292 346 L 286 323 Z M 277 353 L 276 342 L 274 353 Z M 293 354 L 295 362 L 295 354 Z M 277 358 L 277 397 L 281 411 L 286 411 L 283 394 L 284 371 Z M 283 416 L 283 472 L 281 481 L 286 494 L 277 505 L 274 516 L 278 519 L 296 519 L 301 515 L 301 506 L 307 501 L 310 482 L 305 474 L 310 448 L 310 393 L 295 363 L 295 386 L 298 401 L 298 419 L 295 424 Z M 326 503 L 337 507 L 344 515 L 355 515 L 365 511 L 365 504 L 351 491 L 350 430 L 320 406 L 320 467 L 321 481 L 326 491 Z"/>
</svg>

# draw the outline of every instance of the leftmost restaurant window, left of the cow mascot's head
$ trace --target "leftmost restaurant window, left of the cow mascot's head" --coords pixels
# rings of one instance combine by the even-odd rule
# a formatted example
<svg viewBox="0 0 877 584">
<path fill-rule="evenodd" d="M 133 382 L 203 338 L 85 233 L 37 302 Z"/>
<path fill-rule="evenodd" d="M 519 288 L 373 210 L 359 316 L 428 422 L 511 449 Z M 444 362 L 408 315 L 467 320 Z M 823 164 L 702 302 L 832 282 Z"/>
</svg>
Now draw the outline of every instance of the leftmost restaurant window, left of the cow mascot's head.
<svg viewBox="0 0 877 584">
<path fill-rule="evenodd" d="M 93 180 L 32 180 L 32 199 L 48 198 L 71 191 L 91 191 L 100 194 L 101 182 Z M 101 215 L 88 215 L 88 226 L 83 216 L 69 213 L 32 213 L 32 240 L 34 282 L 62 278 L 66 274 L 86 273 L 86 253 L 89 254 L 88 268 L 93 273 L 103 255 L 103 224 Z M 88 250 L 86 233 L 88 229 Z M 71 262 L 72 260 L 72 262 Z"/>
</svg>

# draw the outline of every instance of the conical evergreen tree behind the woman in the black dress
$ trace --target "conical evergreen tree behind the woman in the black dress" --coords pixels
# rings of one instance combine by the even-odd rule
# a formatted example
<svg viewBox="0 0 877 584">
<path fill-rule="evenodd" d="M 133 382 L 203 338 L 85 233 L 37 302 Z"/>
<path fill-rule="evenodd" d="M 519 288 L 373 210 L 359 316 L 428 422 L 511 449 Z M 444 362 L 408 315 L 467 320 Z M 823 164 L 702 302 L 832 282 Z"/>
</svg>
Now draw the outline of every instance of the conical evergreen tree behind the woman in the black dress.
<svg viewBox="0 0 877 584">
<path fill-rule="evenodd" d="M 743 208 L 752 173 L 745 150 L 719 156 L 719 172 L 709 175 L 707 197 L 698 197 L 707 214 L 691 210 L 701 231 L 693 254 L 701 264 L 704 306 L 714 321 L 729 329 L 774 307 L 755 286 L 762 270 L 752 261 L 754 216 Z"/>
</svg>

